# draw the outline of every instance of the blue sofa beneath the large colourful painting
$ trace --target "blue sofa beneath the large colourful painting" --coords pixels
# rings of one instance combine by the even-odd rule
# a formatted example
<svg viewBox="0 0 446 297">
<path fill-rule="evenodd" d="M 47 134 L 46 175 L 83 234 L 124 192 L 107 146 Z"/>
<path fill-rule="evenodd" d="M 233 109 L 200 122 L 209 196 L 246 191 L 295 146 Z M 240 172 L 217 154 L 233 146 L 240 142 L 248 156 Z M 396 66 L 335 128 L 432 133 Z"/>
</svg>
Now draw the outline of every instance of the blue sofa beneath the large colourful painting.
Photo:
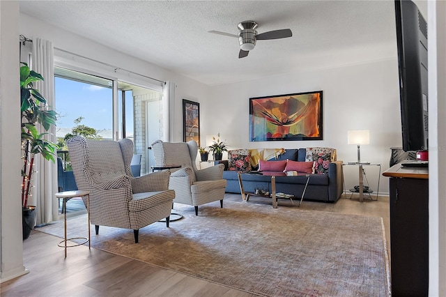
<svg viewBox="0 0 446 297">
<path fill-rule="evenodd" d="M 306 148 L 286 149 L 275 160 L 305 161 Z M 240 193 L 240 184 L 236 171 L 226 170 L 228 161 L 218 161 L 225 165 L 223 178 L 226 179 L 226 192 Z M 309 174 L 309 182 L 305 191 L 304 200 L 335 202 L 344 192 L 342 174 L 342 161 L 334 161 L 328 164 L 328 174 Z M 254 192 L 256 189 L 271 192 L 270 176 L 261 174 L 243 174 L 243 188 L 245 192 Z M 276 176 L 276 192 L 295 195 L 300 198 L 307 182 L 306 176 Z"/>
</svg>

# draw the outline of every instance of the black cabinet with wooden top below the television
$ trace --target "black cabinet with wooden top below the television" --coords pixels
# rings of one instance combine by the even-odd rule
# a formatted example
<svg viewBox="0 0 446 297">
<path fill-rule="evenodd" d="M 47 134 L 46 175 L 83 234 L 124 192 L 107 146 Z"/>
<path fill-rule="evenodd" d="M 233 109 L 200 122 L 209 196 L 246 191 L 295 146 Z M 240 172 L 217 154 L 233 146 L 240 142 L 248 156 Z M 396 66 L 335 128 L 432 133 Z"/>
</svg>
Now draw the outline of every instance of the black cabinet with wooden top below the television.
<svg viewBox="0 0 446 297">
<path fill-rule="evenodd" d="M 427 168 L 390 167 L 392 296 L 427 296 L 429 289 L 429 174 Z"/>
</svg>

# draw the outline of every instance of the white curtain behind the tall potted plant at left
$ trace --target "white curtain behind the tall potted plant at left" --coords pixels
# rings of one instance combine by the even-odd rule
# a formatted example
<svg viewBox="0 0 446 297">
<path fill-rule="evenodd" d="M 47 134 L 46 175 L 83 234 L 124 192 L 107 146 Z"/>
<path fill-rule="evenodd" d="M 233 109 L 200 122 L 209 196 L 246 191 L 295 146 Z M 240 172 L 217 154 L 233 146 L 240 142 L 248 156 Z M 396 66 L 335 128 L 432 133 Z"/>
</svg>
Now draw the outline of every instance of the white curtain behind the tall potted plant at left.
<svg viewBox="0 0 446 297">
<path fill-rule="evenodd" d="M 40 73 L 45 79 L 36 84 L 36 89 L 40 91 L 43 98 L 47 100 L 49 109 L 54 108 L 54 49 L 52 42 L 40 38 L 33 38 L 33 53 L 31 68 Z M 41 128 L 43 132 L 43 128 Z M 47 140 L 56 142 L 56 128 L 52 126 Z M 45 160 L 42 155 L 37 155 L 34 162 L 36 173 L 33 174 L 33 197 L 31 205 L 36 205 L 37 224 L 51 222 L 53 218 L 58 218 L 58 201 L 54 198 L 57 192 L 57 165 L 52 161 Z"/>
</svg>

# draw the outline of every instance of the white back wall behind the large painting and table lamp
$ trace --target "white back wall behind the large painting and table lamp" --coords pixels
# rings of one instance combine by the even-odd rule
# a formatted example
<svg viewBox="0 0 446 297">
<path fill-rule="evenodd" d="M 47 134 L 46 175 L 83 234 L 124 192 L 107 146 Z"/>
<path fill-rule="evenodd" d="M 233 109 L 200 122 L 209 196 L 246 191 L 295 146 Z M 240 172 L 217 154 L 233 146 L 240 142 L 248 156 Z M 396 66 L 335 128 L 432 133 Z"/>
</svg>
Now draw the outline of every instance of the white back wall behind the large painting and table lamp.
<svg viewBox="0 0 446 297">
<path fill-rule="evenodd" d="M 323 91 L 323 140 L 249 142 L 249 98 Z M 355 161 L 357 148 L 347 144 L 348 130 L 370 130 L 361 160 L 389 167 L 390 147 L 401 146 L 398 63 L 395 59 L 305 73 L 289 73 L 237 84 L 210 87 L 210 102 L 201 107 L 201 141 L 220 132 L 231 148 L 337 148 L 338 160 Z M 378 186 L 378 167 L 367 167 L 371 188 Z M 358 184 L 358 168 L 344 167 L 346 188 Z M 380 176 L 380 193 L 388 194 Z"/>
</svg>

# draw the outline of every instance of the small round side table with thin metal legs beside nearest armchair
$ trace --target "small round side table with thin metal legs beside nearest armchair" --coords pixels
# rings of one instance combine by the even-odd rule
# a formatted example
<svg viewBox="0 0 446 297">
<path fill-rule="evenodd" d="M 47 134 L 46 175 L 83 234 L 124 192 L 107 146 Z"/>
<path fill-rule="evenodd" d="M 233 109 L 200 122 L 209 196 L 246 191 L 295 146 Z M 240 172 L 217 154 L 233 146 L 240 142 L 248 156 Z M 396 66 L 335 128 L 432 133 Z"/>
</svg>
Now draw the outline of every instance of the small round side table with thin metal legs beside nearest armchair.
<svg viewBox="0 0 446 297">
<path fill-rule="evenodd" d="M 91 248 L 91 243 L 90 243 L 90 192 L 89 191 L 81 191 L 81 190 L 77 190 L 77 191 L 66 191 L 66 192 L 58 192 L 55 194 L 56 198 L 59 199 L 63 199 L 63 203 L 62 203 L 62 211 L 63 211 L 63 238 L 64 240 L 61 241 L 58 246 L 61 248 L 65 248 L 65 257 L 67 257 L 67 248 L 72 248 L 75 247 L 77 245 L 83 245 L 84 243 L 89 243 L 89 249 Z M 86 207 L 86 213 L 89 217 L 89 237 L 73 237 L 73 238 L 67 238 L 67 209 L 66 209 L 66 201 L 67 199 L 70 198 L 74 198 L 74 197 L 86 197 L 86 201 L 87 201 L 87 207 Z M 67 241 L 71 241 L 72 239 L 84 239 L 85 241 L 83 241 L 82 243 L 77 243 L 75 245 L 67 245 Z M 62 243 L 64 243 L 64 245 L 62 245 Z"/>
</svg>

